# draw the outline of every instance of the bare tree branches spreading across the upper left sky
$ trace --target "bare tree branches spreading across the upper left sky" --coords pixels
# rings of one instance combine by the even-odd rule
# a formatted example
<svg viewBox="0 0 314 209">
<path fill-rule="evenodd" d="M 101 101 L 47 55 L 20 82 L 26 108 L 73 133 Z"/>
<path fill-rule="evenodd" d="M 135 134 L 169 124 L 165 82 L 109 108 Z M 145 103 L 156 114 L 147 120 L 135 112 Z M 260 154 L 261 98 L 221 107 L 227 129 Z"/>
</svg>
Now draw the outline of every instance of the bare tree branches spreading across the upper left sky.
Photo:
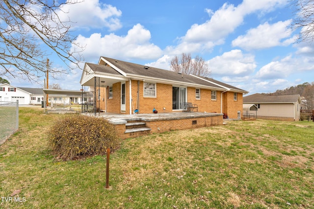
<svg viewBox="0 0 314 209">
<path fill-rule="evenodd" d="M 14 78 L 36 78 L 45 75 L 46 59 L 56 54 L 71 69 L 78 67 L 80 56 L 71 51 L 76 37 L 71 35 L 70 20 L 62 21 L 60 14 L 67 0 L 1 0 L 0 1 L 0 75 Z M 59 14 L 59 15 L 58 15 Z M 48 46 L 45 51 L 43 46 Z M 49 73 L 68 73 L 69 68 L 50 69 Z"/>
</svg>

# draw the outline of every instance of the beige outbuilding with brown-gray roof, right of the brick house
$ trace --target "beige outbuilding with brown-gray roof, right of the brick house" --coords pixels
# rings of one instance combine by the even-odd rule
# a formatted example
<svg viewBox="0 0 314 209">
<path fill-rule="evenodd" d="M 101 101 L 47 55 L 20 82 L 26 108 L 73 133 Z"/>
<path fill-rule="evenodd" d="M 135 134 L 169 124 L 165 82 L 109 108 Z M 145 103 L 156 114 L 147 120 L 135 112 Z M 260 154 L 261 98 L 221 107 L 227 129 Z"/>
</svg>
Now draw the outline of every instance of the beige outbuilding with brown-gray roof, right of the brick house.
<svg viewBox="0 0 314 209">
<path fill-rule="evenodd" d="M 255 105 L 258 110 L 249 111 L 249 113 L 257 114 L 257 118 L 260 119 L 300 120 L 301 97 L 299 94 L 269 96 L 255 93 L 243 96 L 244 104 Z"/>
</svg>

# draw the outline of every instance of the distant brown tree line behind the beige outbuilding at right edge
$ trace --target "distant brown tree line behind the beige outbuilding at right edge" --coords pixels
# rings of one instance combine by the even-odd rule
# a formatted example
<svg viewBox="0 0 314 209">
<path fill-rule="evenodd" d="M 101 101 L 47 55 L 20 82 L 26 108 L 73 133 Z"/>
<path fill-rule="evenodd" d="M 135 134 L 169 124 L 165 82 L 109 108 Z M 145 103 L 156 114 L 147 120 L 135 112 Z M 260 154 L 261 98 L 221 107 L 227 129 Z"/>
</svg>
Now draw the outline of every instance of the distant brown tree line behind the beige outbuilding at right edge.
<svg viewBox="0 0 314 209">
<path fill-rule="evenodd" d="M 277 90 L 274 93 L 262 93 L 265 95 L 292 95 L 300 94 L 303 102 L 308 107 L 309 110 L 314 110 L 314 82 L 303 83 L 297 86 L 291 86 L 284 90 Z"/>
</svg>

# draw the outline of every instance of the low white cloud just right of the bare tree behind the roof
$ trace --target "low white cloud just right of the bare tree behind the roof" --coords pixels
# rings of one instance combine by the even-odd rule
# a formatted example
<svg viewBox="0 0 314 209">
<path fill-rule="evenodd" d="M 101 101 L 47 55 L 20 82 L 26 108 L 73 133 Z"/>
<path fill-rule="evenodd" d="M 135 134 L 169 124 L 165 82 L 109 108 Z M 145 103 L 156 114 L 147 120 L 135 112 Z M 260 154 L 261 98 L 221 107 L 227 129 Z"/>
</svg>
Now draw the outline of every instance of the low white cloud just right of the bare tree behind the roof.
<svg viewBox="0 0 314 209">
<path fill-rule="evenodd" d="M 254 56 L 243 54 L 239 49 L 225 52 L 208 62 L 212 75 L 246 76 L 253 73 L 256 68 Z"/>
</svg>

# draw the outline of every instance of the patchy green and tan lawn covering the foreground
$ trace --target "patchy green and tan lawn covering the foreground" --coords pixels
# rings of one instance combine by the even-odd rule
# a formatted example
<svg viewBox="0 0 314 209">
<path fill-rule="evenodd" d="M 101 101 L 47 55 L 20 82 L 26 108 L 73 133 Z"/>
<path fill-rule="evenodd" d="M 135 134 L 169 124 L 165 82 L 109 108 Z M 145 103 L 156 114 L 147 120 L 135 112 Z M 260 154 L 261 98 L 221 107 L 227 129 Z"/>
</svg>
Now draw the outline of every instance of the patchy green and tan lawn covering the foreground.
<svg viewBox="0 0 314 209">
<path fill-rule="evenodd" d="M 105 156 L 51 155 L 46 131 L 63 116 L 20 108 L 19 131 L 0 146 L 0 209 L 314 207 L 313 122 L 230 121 L 126 139 L 110 155 L 106 189 Z"/>
</svg>

